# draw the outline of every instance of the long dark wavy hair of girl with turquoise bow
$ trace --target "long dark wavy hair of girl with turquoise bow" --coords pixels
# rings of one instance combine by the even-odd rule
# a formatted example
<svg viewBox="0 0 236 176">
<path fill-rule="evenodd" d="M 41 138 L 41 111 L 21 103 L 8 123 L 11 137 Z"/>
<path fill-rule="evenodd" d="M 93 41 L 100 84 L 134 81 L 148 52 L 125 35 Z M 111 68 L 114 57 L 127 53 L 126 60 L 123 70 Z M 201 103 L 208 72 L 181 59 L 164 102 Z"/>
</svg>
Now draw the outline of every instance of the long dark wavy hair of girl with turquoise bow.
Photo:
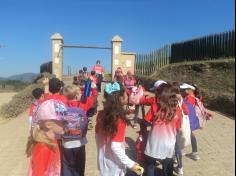
<svg viewBox="0 0 236 176">
<path fill-rule="evenodd" d="M 121 84 L 120 86 L 121 90 L 113 92 L 111 95 L 106 92 L 104 93 L 105 102 L 103 118 L 101 119 L 101 128 L 106 134 L 111 136 L 114 136 L 118 131 L 117 123 L 119 119 L 128 123 L 126 119 L 126 111 L 120 100 L 120 98 L 124 96 L 125 90 Z"/>
</svg>

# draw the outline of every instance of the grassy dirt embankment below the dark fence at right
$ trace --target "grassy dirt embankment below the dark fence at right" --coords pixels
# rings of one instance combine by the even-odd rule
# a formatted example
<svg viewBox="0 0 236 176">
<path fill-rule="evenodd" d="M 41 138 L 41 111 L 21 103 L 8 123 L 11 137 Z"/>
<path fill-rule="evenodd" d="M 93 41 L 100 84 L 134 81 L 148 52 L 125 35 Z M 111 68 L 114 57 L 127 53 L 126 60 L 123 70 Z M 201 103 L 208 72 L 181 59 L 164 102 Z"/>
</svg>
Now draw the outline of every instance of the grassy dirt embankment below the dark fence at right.
<svg viewBox="0 0 236 176">
<path fill-rule="evenodd" d="M 146 89 L 158 79 L 194 83 L 208 108 L 235 117 L 235 59 L 172 64 L 142 79 Z"/>
</svg>

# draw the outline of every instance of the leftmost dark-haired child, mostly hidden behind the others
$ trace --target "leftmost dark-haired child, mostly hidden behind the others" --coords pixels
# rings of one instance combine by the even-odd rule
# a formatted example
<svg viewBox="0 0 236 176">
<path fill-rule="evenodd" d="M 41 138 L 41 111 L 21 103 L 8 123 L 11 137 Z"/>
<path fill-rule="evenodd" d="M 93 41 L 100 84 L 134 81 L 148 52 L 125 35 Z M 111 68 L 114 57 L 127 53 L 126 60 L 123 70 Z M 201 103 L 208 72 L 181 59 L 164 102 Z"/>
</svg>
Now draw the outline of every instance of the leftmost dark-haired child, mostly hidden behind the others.
<svg viewBox="0 0 236 176">
<path fill-rule="evenodd" d="M 44 90 L 41 88 L 36 88 L 32 91 L 32 95 L 35 101 L 31 104 L 30 110 L 29 110 L 29 129 L 31 129 L 31 126 L 32 126 L 32 116 L 33 116 L 35 107 L 44 99 Z"/>
</svg>

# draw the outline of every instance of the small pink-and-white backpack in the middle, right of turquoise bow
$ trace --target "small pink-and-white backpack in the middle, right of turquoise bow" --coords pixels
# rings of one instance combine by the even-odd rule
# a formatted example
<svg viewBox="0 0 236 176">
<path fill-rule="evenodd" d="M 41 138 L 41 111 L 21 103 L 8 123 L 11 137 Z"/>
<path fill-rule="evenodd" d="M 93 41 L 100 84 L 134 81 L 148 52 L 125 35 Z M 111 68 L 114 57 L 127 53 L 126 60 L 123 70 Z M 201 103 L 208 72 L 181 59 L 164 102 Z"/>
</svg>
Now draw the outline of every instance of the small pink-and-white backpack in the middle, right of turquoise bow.
<svg viewBox="0 0 236 176">
<path fill-rule="evenodd" d="M 144 98 L 144 90 L 141 86 L 133 87 L 129 96 L 129 103 L 133 105 L 139 105 Z"/>
</svg>

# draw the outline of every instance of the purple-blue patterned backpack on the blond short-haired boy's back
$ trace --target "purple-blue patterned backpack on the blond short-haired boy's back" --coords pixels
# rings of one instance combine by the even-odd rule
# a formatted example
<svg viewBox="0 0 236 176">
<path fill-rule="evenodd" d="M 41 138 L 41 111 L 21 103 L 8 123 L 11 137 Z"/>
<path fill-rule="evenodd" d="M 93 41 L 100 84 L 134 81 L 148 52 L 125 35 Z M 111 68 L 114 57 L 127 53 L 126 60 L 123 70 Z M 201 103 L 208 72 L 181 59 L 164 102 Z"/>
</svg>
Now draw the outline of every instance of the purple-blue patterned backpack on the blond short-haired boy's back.
<svg viewBox="0 0 236 176">
<path fill-rule="evenodd" d="M 88 118 L 81 108 L 67 108 L 63 119 L 67 122 L 64 139 L 81 139 L 86 136 Z"/>
</svg>

